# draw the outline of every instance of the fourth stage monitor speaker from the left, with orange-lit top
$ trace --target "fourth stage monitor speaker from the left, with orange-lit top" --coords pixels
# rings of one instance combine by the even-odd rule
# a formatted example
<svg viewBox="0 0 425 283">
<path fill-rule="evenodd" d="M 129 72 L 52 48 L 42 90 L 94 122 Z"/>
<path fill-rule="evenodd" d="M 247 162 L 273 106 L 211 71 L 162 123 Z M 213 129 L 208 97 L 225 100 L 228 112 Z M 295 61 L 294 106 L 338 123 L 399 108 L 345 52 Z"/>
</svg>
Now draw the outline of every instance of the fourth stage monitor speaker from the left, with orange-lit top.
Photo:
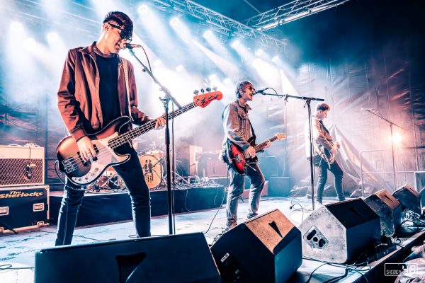
<svg viewBox="0 0 425 283">
<path fill-rule="evenodd" d="M 385 189 L 366 197 L 365 203 L 379 215 L 382 235 L 394 236 L 402 224 L 402 204 Z"/>
</svg>

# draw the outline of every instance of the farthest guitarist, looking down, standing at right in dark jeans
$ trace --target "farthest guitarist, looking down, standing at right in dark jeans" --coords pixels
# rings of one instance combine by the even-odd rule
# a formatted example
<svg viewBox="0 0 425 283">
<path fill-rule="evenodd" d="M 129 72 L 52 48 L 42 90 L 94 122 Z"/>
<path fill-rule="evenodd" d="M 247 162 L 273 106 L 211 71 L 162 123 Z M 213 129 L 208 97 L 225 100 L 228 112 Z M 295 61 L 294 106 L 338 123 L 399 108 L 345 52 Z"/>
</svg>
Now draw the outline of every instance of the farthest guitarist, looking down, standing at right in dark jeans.
<svg viewBox="0 0 425 283">
<path fill-rule="evenodd" d="M 319 178 L 317 180 L 317 205 L 321 206 L 323 201 L 324 185 L 327 182 L 327 171 L 334 174 L 336 195 L 339 201 L 345 200 L 342 188 L 343 171 L 338 162 L 334 159 L 339 148 L 337 142 L 332 141 L 331 134 L 323 125 L 323 120 L 327 117 L 330 106 L 327 103 L 319 103 L 316 111 L 312 115 L 312 143 L 313 143 L 313 163 L 319 168 Z M 305 123 L 305 153 L 310 160 L 310 128 L 309 122 Z"/>
</svg>

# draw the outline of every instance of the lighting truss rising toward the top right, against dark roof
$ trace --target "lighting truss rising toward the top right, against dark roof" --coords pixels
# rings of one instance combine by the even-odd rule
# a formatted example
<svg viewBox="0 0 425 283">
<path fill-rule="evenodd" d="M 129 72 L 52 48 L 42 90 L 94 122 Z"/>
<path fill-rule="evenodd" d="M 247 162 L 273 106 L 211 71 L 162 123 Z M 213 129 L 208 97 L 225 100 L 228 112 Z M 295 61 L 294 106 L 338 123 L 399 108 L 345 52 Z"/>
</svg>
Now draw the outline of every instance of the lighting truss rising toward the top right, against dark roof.
<svg viewBox="0 0 425 283">
<path fill-rule="evenodd" d="M 270 30 L 279 25 L 310 16 L 314 13 L 334 8 L 349 0 L 295 0 L 244 21 L 246 25 L 259 31 Z"/>
</svg>

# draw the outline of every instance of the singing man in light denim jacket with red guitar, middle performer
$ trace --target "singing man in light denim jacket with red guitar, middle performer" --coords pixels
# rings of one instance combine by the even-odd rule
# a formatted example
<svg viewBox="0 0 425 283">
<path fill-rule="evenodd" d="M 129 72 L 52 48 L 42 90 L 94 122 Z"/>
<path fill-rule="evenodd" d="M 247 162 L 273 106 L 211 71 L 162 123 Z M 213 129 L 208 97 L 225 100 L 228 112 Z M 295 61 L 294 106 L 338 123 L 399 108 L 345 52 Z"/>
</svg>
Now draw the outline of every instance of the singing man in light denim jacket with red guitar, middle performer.
<svg viewBox="0 0 425 283">
<path fill-rule="evenodd" d="M 244 192 L 244 175 L 240 175 L 234 170 L 229 162 L 227 153 L 228 143 L 239 146 L 244 151 L 244 156 L 254 157 L 256 152 L 254 147 L 248 142 L 252 136 L 255 137 L 254 129 L 249 122 L 248 111 L 251 110 L 248 101 L 251 101 L 255 94 L 255 88 L 249 81 L 241 81 L 237 84 L 235 100 L 229 103 L 222 114 L 223 128 L 225 130 L 225 139 L 223 140 L 222 157 L 227 162 L 229 171 L 229 187 L 227 191 L 226 229 L 232 229 L 237 225 L 237 204 L 239 197 Z M 270 143 L 266 147 L 270 146 Z M 246 176 L 251 180 L 251 189 L 249 190 L 249 213 L 250 219 L 257 215 L 261 197 L 261 191 L 264 186 L 264 176 L 257 163 L 251 163 L 246 166 Z"/>
</svg>

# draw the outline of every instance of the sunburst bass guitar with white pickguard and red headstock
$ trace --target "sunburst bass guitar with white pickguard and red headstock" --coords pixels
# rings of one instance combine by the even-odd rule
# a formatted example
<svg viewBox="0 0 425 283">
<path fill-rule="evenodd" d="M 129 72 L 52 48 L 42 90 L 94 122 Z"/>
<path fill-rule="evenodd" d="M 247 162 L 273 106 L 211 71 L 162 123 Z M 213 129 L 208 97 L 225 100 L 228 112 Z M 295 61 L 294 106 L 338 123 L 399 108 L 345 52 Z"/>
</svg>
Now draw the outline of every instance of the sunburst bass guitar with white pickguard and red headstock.
<svg viewBox="0 0 425 283">
<path fill-rule="evenodd" d="M 197 106 L 205 108 L 212 100 L 221 100 L 222 97 L 220 91 L 194 96 L 193 103 L 170 112 L 169 120 Z M 87 137 L 91 139 L 96 156 L 86 162 L 81 158 L 77 142 L 72 136 L 62 139 L 56 151 L 60 171 L 67 175 L 68 180 L 75 185 L 84 186 L 96 181 L 109 166 L 128 161 L 130 155 L 120 154 L 120 151 L 129 146 L 132 139 L 154 129 L 156 120 L 151 120 L 144 125 L 125 132 L 127 127 L 123 126 L 128 124 L 128 122 L 130 122 L 130 119 L 127 116 L 121 116 L 98 132 L 89 134 Z"/>
</svg>

